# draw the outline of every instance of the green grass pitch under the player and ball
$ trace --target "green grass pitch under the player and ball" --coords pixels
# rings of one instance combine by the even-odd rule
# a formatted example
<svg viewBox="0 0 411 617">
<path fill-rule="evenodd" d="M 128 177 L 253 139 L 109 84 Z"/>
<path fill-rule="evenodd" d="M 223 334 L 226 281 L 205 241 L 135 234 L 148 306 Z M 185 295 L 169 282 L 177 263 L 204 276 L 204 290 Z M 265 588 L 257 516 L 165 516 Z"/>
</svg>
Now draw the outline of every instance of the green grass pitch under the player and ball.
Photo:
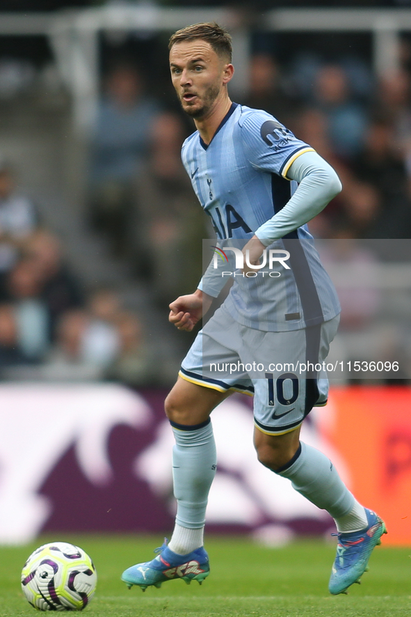
<svg viewBox="0 0 411 617">
<path fill-rule="evenodd" d="M 0 547 L 0 617 L 34 616 L 20 591 L 19 575 L 33 545 Z M 67 536 L 83 547 L 99 575 L 90 617 L 405 617 L 411 614 L 411 549 L 379 547 L 370 572 L 348 595 L 328 594 L 335 548 L 304 540 L 268 549 L 246 538 L 207 540 L 211 575 L 202 586 L 170 581 L 161 589 L 131 591 L 120 581 L 124 568 L 151 559 L 162 538 Z"/>
</svg>

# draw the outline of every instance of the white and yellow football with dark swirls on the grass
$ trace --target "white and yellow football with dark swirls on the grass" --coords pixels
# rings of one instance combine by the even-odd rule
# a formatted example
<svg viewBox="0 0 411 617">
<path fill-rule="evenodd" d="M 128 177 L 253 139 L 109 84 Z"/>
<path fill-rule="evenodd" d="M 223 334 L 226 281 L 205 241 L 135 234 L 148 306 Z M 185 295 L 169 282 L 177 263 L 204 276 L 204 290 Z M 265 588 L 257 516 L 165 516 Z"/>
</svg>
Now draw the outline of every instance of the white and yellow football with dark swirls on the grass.
<svg viewBox="0 0 411 617">
<path fill-rule="evenodd" d="M 82 611 L 96 584 L 97 572 L 88 554 L 67 542 L 40 546 L 22 570 L 24 596 L 39 611 Z"/>
</svg>

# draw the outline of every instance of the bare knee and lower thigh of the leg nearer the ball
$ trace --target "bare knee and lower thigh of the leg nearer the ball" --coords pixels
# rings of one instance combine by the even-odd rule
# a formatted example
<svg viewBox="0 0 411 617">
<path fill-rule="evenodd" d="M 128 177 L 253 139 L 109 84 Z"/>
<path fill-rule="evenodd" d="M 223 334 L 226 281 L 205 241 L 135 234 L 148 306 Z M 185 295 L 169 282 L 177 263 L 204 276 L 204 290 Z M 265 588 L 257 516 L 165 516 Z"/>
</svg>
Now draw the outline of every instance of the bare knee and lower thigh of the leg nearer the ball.
<svg viewBox="0 0 411 617">
<path fill-rule="evenodd" d="M 231 393 L 232 390 L 220 392 L 178 377 L 166 398 L 166 414 L 168 419 L 177 424 L 201 424 L 207 421 L 214 407 Z"/>
</svg>

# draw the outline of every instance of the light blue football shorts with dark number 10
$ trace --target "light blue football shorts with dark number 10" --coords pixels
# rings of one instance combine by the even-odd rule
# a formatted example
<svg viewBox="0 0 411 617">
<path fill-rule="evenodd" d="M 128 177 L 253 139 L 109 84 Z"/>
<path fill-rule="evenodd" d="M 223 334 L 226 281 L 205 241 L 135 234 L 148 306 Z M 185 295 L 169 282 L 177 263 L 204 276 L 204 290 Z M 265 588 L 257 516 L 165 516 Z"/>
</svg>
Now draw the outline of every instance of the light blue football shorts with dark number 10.
<svg viewBox="0 0 411 617">
<path fill-rule="evenodd" d="M 281 435 L 325 405 L 325 359 L 339 315 L 299 330 L 267 332 L 234 321 L 224 306 L 198 333 L 182 362 L 180 377 L 220 392 L 254 395 L 255 425 Z"/>
</svg>

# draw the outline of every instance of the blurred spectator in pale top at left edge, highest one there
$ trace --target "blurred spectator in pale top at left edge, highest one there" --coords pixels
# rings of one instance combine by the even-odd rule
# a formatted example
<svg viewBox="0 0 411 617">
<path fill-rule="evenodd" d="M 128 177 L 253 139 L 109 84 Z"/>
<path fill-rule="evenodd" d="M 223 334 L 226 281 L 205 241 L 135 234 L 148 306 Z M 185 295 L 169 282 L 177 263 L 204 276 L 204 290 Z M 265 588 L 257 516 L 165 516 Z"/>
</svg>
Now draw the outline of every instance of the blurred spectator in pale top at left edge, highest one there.
<svg viewBox="0 0 411 617">
<path fill-rule="evenodd" d="M 15 262 L 19 245 L 38 225 L 38 214 L 28 197 L 16 189 L 15 171 L 0 155 L 0 273 Z"/>
</svg>

